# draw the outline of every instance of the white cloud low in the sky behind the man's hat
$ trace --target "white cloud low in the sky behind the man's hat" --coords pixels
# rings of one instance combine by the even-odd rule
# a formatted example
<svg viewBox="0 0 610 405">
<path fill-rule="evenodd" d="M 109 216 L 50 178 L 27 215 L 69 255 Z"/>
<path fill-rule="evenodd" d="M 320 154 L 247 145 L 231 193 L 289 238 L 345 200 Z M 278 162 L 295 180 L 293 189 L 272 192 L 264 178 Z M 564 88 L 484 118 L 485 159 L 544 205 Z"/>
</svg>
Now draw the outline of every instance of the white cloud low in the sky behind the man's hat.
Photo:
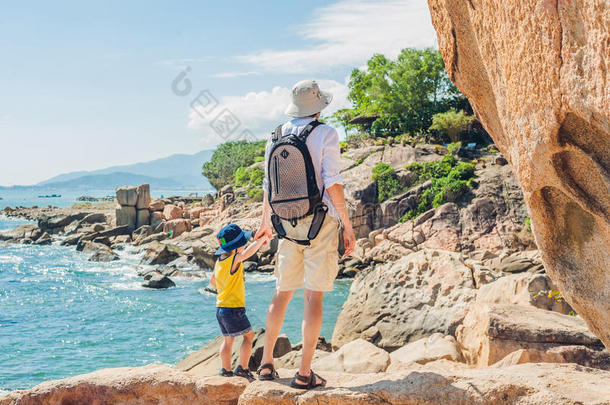
<svg viewBox="0 0 610 405">
<path fill-rule="evenodd" d="M 335 80 L 318 80 L 318 83 L 321 89 L 333 93 L 333 101 L 324 109 L 323 115 L 332 114 L 341 108 L 350 106 L 347 100 L 349 89 L 345 83 Z M 288 87 L 276 86 L 270 91 L 222 97 L 214 108 L 195 105 L 189 112 L 188 128 L 203 130 L 205 137 L 202 142 L 210 147 L 229 139 L 236 139 L 246 129 L 255 137 L 262 138 L 269 134 L 277 124 L 287 119 L 284 110 L 290 102 L 290 94 Z M 202 104 L 207 105 L 209 99 L 203 97 L 202 100 Z M 239 128 L 235 129 L 229 138 L 216 134 L 210 125 L 225 110 L 234 114 L 240 122 Z"/>
</svg>

